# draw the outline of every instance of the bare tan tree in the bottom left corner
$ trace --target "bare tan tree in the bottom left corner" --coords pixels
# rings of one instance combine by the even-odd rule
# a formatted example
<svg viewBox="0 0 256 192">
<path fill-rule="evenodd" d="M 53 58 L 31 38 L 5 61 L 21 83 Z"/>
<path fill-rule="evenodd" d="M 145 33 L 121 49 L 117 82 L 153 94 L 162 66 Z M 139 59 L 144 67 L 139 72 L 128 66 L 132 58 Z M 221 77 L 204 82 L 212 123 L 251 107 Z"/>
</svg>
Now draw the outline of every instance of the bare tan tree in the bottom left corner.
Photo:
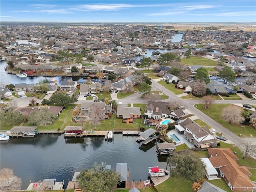
<svg viewBox="0 0 256 192">
<path fill-rule="evenodd" d="M 0 178 L 1 191 L 16 191 L 21 189 L 22 181 L 14 175 L 12 169 L 2 168 L 0 170 Z"/>
</svg>

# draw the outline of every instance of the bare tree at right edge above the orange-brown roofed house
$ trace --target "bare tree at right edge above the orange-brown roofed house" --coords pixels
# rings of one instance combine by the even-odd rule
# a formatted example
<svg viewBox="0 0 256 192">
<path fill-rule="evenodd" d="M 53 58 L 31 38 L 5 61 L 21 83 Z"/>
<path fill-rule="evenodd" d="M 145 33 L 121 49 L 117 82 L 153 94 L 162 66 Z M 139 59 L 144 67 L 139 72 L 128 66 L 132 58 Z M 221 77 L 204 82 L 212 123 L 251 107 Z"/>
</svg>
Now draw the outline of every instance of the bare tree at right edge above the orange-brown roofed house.
<svg viewBox="0 0 256 192">
<path fill-rule="evenodd" d="M 255 139 L 252 138 L 246 138 L 240 145 L 241 151 L 243 153 L 243 159 L 246 158 L 246 156 L 255 156 L 256 154 L 256 142 Z"/>
</svg>

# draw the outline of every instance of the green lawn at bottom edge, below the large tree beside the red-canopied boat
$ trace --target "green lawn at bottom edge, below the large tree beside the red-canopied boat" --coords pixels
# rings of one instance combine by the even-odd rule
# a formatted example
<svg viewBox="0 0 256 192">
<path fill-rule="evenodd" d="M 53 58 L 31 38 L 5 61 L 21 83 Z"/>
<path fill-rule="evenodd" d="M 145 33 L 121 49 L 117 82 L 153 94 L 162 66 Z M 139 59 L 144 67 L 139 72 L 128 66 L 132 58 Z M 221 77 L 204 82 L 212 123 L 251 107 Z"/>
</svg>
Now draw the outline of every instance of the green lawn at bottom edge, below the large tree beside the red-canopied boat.
<svg viewBox="0 0 256 192">
<path fill-rule="evenodd" d="M 173 189 L 178 192 L 192 192 L 192 182 L 184 177 L 170 177 L 156 186 L 158 192 L 166 192 Z"/>
</svg>

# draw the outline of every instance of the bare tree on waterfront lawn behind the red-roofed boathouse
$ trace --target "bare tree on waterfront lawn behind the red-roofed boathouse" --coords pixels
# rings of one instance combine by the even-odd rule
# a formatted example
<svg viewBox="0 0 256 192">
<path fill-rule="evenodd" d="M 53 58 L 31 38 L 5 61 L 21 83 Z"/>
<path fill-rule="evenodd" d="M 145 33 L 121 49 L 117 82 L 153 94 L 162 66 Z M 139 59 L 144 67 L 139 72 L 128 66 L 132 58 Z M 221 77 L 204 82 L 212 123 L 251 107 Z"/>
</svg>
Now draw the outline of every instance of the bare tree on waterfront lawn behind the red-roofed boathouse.
<svg viewBox="0 0 256 192">
<path fill-rule="evenodd" d="M 89 108 L 89 119 L 94 125 L 94 130 L 96 130 L 96 125 L 100 124 L 100 120 L 104 116 L 101 106 L 98 103 L 93 103 Z"/>
</svg>

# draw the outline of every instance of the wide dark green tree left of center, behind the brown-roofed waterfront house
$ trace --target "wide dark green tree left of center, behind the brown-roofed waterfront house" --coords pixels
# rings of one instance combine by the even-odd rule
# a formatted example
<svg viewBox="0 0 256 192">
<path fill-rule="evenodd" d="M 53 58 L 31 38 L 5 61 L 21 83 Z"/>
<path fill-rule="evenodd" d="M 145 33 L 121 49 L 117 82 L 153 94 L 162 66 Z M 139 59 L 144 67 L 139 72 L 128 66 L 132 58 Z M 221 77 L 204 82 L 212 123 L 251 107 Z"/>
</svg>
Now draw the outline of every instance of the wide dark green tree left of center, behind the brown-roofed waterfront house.
<svg viewBox="0 0 256 192">
<path fill-rule="evenodd" d="M 65 104 L 73 104 L 77 101 L 77 98 L 74 96 L 68 96 L 64 93 L 56 93 L 51 96 L 50 104 L 55 104 L 58 106 L 64 106 Z"/>
</svg>

